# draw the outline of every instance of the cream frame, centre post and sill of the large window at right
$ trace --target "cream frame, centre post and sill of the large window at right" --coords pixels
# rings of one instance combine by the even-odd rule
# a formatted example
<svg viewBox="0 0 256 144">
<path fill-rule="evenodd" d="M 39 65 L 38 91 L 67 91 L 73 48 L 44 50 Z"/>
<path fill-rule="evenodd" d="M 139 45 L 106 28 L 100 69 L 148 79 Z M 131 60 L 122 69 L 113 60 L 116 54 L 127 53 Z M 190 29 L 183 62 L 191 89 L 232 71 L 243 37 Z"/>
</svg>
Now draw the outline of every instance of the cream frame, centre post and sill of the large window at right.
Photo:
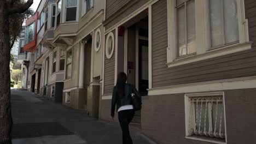
<svg viewBox="0 0 256 144">
<path fill-rule="evenodd" d="M 177 55 L 177 32 L 176 32 L 176 1 L 167 1 L 167 23 L 168 23 L 168 47 L 167 65 L 168 68 L 178 65 L 189 64 L 209 58 L 229 55 L 231 53 L 249 50 L 252 42 L 249 41 L 248 20 L 245 19 L 245 2 L 237 1 L 237 17 L 239 43 L 224 45 L 218 49 L 211 49 L 210 44 L 210 17 L 208 1 L 195 1 L 195 21 L 196 21 L 196 55 L 189 55 L 179 58 Z"/>
</svg>

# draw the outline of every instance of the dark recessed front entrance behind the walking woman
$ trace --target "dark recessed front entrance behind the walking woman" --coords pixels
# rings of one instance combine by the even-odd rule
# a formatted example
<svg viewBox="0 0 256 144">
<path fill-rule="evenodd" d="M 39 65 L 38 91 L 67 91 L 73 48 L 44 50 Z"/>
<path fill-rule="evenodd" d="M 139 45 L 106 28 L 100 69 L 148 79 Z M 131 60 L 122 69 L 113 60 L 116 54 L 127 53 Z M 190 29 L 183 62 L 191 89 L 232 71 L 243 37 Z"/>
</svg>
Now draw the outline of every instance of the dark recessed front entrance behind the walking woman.
<svg viewBox="0 0 256 144">
<path fill-rule="evenodd" d="M 148 16 L 126 28 L 125 73 L 127 82 L 136 86 L 142 97 L 147 97 L 148 73 Z M 141 111 L 136 111 L 132 123 L 141 123 Z"/>
</svg>

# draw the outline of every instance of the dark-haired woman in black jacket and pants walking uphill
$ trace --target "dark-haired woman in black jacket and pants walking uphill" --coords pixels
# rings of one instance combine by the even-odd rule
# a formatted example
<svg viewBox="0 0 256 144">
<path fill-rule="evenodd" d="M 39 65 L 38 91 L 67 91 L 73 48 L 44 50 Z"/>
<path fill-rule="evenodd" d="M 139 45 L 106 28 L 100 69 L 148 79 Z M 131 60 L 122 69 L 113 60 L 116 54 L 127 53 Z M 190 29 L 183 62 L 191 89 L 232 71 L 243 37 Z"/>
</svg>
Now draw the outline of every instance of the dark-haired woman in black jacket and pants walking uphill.
<svg viewBox="0 0 256 144">
<path fill-rule="evenodd" d="M 137 89 L 129 83 L 126 83 L 127 76 L 121 72 L 118 74 L 117 85 L 113 89 L 111 117 L 114 118 L 115 105 L 117 105 L 118 119 L 123 131 L 123 144 L 132 144 L 129 131 L 129 123 L 132 121 L 135 111 L 132 105 L 132 96 L 141 100 L 141 95 Z"/>
</svg>

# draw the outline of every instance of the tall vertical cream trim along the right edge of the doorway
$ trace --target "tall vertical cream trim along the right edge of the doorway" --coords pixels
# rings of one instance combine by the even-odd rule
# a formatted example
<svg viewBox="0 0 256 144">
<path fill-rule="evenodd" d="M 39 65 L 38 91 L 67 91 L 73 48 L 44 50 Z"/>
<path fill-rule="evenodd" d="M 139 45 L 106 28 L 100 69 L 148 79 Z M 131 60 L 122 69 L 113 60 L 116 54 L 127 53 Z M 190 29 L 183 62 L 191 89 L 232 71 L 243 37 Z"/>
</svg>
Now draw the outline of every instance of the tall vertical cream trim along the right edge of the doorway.
<svg viewBox="0 0 256 144">
<path fill-rule="evenodd" d="M 148 88 L 152 88 L 152 6 L 148 8 Z"/>
</svg>

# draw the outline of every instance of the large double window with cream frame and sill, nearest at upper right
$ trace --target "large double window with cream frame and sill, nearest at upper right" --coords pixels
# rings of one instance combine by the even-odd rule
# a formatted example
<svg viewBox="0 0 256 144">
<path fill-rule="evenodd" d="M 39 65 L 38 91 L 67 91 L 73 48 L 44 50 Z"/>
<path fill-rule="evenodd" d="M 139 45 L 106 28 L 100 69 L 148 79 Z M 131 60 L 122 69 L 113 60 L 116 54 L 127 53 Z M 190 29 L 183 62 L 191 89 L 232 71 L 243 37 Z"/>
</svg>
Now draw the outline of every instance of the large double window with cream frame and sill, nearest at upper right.
<svg viewBox="0 0 256 144">
<path fill-rule="evenodd" d="M 168 68 L 251 49 L 244 3 L 167 1 Z"/>
</svg>

